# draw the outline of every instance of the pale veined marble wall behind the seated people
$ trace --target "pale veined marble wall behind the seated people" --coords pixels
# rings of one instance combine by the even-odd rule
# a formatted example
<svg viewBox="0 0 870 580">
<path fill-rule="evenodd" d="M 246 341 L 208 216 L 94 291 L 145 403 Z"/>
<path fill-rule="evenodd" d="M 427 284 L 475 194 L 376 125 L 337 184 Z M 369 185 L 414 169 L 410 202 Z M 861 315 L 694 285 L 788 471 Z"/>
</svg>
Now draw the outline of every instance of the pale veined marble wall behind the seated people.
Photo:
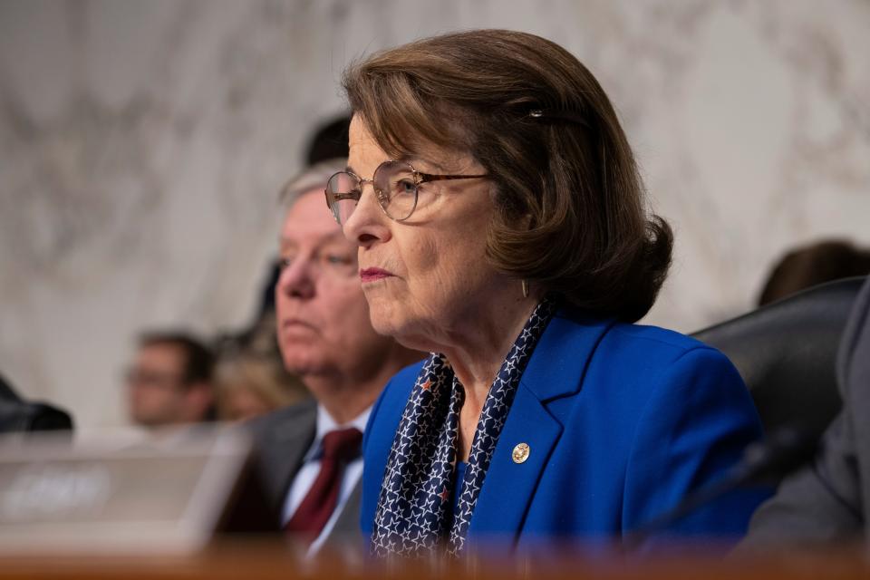
<svg viewBox="0 0 870 580">
<path fill-rule="evenodd" d="M 748 310 L 797 243 L 870 244 L 867 0 L 0 0 L 0 369 L 123 424 L 138 330 L 247 324 L 345 64 L 484 26 L 612 96 L 678 235 L 649 322 Z"/>
</svg>

